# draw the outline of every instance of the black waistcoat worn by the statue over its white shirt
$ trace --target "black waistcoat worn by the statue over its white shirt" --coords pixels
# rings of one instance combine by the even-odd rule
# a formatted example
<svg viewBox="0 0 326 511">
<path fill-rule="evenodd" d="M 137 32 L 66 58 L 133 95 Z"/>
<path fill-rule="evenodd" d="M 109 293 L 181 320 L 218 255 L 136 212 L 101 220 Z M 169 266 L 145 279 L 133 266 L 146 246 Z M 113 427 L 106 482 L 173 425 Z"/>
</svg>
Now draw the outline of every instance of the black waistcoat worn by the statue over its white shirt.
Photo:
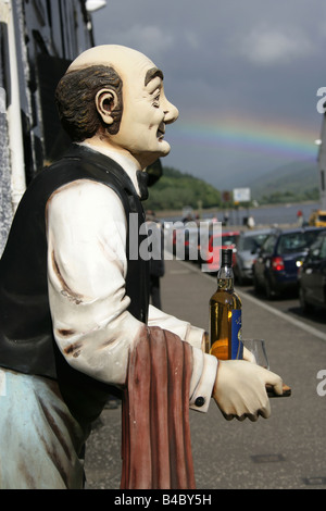
<svg viewBox="0 0 326 511">
<path fill-rule="evenodd" d="M 90 421 L 112 388 L 73 370 L 58 349 L 52 333 L 47 283 L 46 207 L 59 187 L 76 179 L 91 179 L 111 187 L 122 200 L 127 217 L 126 294 L 129 312 L 147 322 L 148 263 L 128 258 L 129 213 L 137 213 L 138 228 L 143 209 L 134 185 L 110 158 L 73 146 L 58 162 L 45 169 L 21 200 L 0 261 L 0 366 L 58 379 L 72 413 Z M 105 219 L 103 219 L 105 222 Z M 142 241 L 138 235 L 139 242 Z"/>
</svg>

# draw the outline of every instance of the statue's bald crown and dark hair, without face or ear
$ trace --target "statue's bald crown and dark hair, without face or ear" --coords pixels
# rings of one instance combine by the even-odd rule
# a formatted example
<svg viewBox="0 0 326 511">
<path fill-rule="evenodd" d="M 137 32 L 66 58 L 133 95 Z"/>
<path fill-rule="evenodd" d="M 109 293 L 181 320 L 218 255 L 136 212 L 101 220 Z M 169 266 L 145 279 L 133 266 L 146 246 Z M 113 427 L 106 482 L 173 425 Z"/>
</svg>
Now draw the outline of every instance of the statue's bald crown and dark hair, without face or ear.
<svg viewBox="0 0 326 511">
<path fill-rule="evenodd" d="M 55 101 L 63 127 L 74 141 L 91 138 L 100 127 L 111 135 L 118 132 L 123 111 L 123 83 L 133 82 L 149 68 L 143 83 L 147 85 L 163 73 L 146 55 L 120 45 L 102 45 L 78 55 L 68 66 L 58 85 Z M 117 94 L 113 122 L 103 123 L 96 109 L 95 96 L 100 88 L 114 88 Z"/>
</svg>

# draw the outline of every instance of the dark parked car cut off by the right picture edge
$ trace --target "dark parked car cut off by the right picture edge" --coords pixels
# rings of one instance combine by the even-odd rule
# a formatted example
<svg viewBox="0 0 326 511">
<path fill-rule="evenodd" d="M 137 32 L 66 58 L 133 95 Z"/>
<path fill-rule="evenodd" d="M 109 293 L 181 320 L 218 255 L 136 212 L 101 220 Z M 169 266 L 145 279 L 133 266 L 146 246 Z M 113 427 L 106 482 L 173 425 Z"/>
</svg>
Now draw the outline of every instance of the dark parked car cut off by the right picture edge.
<svg viewBox="0 0 326 511">
<path fill-rule="evenodd" d="M 302 312 L 326 308 L 326 230 L 311 246 L 299 270 L 298 279 Z"/>
</svg>

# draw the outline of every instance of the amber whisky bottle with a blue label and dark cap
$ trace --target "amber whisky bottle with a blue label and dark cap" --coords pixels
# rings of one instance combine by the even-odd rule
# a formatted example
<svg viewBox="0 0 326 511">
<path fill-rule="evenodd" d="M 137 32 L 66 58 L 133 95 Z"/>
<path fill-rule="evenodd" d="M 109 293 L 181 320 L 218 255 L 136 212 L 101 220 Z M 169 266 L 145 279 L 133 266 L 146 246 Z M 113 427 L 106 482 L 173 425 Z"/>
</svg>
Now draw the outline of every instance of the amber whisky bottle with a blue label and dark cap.
<svg viewBox="0 0 326 511">
<path fill-rule="evenodd" d="M 217 290 L 210 300 L 210 353 L 221 360 L 241 359 L 241 308 L 234 289 L 233 250 L 221 250 Z"/>
</svg>

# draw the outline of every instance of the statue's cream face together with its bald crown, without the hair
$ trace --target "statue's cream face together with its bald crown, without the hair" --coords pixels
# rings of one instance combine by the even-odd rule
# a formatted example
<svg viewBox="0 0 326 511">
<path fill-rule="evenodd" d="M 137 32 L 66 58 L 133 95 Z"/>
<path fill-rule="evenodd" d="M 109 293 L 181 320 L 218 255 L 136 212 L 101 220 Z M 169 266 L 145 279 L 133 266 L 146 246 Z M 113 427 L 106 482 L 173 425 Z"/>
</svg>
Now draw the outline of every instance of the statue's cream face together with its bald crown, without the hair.
<svg viewBox="0 0 326 511">
<path fill-rule="evenodd" d="M 116 135 L 108 136 L 106 142 L 128 151 L 142 167 L 168 154 L 165 126 L 177 119 L 178 111 L 165 98 L 162 72 L 142 53 L 120 46 L 87 50 L 72 68 L 96 64 L 112 66 L 123 82 L 120 129 Z"/>
</svg>

